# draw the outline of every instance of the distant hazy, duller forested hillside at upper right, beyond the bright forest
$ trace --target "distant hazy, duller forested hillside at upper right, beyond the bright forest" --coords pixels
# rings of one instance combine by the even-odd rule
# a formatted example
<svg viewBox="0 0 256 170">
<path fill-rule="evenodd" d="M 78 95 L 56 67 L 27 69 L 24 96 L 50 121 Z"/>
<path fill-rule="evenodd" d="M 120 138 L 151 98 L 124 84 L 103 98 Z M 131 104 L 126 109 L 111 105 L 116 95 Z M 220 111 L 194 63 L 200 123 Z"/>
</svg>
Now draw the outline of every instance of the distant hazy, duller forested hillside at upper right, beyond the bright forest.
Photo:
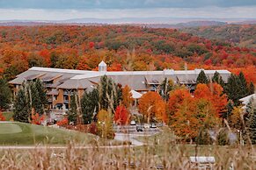
<svg viewBox="0 0 256 170">
<path fill-rule="evenodd" d="M 218 25 L 182 30 L 206 39 L 221 39 L 237 46 L 256 48 L 256 25 Z"/>
</svg>

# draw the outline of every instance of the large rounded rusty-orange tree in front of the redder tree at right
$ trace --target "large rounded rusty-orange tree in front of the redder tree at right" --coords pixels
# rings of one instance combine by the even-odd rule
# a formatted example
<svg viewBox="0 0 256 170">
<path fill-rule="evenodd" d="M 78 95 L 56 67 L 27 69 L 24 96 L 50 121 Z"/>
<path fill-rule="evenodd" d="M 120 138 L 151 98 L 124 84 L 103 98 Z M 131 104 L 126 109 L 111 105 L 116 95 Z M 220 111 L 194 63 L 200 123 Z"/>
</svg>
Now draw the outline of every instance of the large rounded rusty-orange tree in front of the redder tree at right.
<svg viewBox="0 0 256 170">
<path fill-rule="evenodd" d="M 179 137 L 194 140 L 201 129 L 210 130 L 217 124 L 218 117 L 212 103 L 204 98 L 186 98 L 179 105 L 177 112 L 172 115 L 171 127 Z"/>
</svg>

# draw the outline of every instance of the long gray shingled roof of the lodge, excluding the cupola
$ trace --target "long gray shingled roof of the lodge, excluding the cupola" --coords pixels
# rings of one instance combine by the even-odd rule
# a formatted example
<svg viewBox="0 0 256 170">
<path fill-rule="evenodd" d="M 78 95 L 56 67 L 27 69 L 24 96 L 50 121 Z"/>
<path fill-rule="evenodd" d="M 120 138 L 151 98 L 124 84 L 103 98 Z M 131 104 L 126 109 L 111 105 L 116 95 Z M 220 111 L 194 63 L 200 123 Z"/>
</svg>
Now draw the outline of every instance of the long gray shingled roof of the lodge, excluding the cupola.
<svg viewBox="0 0 256 170">
<path fill-rule="evenodd" d="M 58 68 L 32 67 L 17 78 L 10 81 L 11 84 L 22 84 L 23 81 L 40 77 L 42 81 L 52 81 L 58 77 L 57 82 L 52 84 L 51 88 L 56 89 L 91 89 L 91 87 L 100 81 L 100 77 L 106 74 L 113 81 L 122 86 L 128 85 L 135 90 L 148 90 L 147 85 L 161 84 L 165 77 L 172 79 L 174 82 L 191 83 L 195 82 L 201 69 L 195 70 L 163 70 L 163 71 L 128 71 L 128 72 L 106 72 L 69 70 Z M 212 78 L 216 70 L 204 70 L 205 74 Z M 227 70 L 217 70 L 223 81 L 227 81 L 230 72 Z"/>
</svg>

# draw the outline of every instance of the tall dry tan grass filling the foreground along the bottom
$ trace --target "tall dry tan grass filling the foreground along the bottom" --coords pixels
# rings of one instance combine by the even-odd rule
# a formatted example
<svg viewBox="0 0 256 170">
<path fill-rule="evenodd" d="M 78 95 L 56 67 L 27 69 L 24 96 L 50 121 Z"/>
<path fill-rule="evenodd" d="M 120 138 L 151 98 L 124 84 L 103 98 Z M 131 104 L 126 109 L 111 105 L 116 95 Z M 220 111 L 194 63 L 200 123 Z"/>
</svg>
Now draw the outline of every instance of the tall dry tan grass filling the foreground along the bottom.
<svg viewBox="0 0 256 170">
<path fill-rule="evenodd" d="M 1 169 L 190 169 L 195 145 L 143 145 L 78 148 L 35 146 L 34 149 L 0 151 Z M 256 169 L 255 147 L 200 145 L 197 156 L 214 156 L 215 169 Z"/>
</svg>

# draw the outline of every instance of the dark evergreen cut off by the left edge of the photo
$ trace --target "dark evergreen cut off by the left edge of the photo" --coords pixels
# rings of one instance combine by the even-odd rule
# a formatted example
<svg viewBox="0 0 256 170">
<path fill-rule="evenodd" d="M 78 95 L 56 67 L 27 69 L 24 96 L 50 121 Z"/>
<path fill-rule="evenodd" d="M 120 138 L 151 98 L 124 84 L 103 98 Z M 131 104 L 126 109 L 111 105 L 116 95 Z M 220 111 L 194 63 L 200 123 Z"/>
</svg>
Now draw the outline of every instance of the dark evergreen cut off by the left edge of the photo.
<svg viewBox="0 0 256 170">
<path fill-rule="evenodd" d="M 0 110 L 8 109 L 11 103 L 11 89 L 7 81 L 0 79 Z"/>
</svg>

